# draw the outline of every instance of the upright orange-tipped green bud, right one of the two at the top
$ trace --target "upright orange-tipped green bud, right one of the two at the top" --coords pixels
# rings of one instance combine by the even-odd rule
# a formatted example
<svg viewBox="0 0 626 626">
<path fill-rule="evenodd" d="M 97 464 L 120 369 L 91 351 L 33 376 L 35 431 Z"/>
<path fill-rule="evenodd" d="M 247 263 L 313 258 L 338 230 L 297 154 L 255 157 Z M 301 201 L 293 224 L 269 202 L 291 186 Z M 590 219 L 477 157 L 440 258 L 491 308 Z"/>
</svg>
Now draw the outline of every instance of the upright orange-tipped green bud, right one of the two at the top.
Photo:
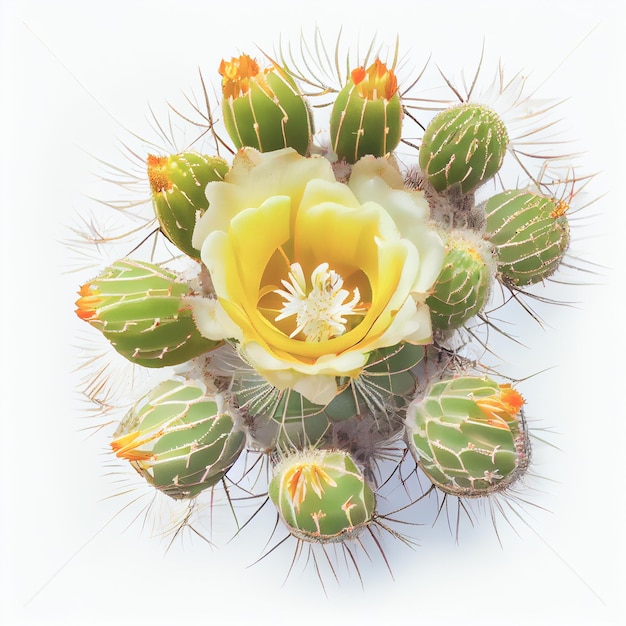
<svg viewBox="0 0 626 626">
<path fill-rule="evenodd" d="M 353 70 L 330 116 L 337 157 L 356 163 L 367 154 L 385 156 L 400 143 L 401 133 L 402 105 L 393 70 L 379 59 L 367 70 Z"/>
</svg>

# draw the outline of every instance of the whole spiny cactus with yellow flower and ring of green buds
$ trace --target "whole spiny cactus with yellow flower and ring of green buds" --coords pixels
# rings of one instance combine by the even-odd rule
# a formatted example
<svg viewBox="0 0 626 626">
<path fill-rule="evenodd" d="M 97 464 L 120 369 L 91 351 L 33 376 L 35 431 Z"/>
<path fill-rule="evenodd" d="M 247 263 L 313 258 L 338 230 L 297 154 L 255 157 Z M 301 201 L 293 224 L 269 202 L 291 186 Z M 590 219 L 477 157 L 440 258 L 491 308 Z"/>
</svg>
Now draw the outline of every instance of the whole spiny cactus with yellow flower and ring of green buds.
<svg viewBox="0 0 626 626">
<path fill-rule="evenodd" d="M 422 74 L 400 76 L 397 48 L 356 63 L 319 37 L 300 50 L 264 53 L 265 68 L 222 60 L 220 101 L 205 89 L 196 124 L 207 132 L 173 154 L 146 146 L 137 258 L 103 262 L 76 313 L 154 383 L 114 406 L 104 366 L 85 393 L 121 411 L 112 452 L 159 498 L 183 500 L 185 525 L 214 498 L 233 513 L 273 505 L 294 559 L 308 550 L 319 573 L 332 543 L 361 578 L 360 551 L 387 564 L 383 539 L 412 543 L 396 524 L 423 523 L 429 494 L 440 510 L 479 499 L 495 519 L 532 478 L 526 416 L 540 399 L 489 365 L 492 337 L 520 343 L 507 311 L 535 317 L 525 298 L 548 302 L 571 265 L 579 179 L 527 148 L 551 124 L 520 78 L 496 81 L 493 102 L 446 78 L 452 96 L 432 99 Z M 236 534 L 258 512 L 235 513 Z"/>
</svg>

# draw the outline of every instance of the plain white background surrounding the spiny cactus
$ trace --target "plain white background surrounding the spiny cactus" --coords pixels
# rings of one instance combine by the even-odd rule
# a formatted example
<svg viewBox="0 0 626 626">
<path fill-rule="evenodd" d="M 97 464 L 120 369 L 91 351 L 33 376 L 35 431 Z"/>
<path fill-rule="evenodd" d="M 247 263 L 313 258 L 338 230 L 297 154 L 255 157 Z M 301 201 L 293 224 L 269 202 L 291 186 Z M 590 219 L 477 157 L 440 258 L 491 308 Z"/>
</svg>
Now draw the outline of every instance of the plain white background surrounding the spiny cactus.
<svg viewBox="0 0 626 626">
<path fill-rule="evenodd" d="M 626 23 L 619 5 L 0 4 L 3 624 L 575 625 L 626 615 Z M 187 541 L 167 554 L 150 529 L 127 529 L 124 512 L 102 529 L 124 501 L 106 500 L 119 491 L 105 476 L 110 430 L 84 430 L 72 373 L 75 290 L 91 275 L 64 274 L 71 260 L 59 243 L 76 214 L 97 210 L 87 197 L 97 194 L 99 173 L 90 155 L 116 162 L 118 138 L 128 137 L 122 125 L 141 132 L 148 104 L 180 101 L 181 91 L 197 86 L 198 66 L 218 85 L 222 57 L 253 43 L 271 49 L 281 34 L 297 41 L 300 28 L 310 34 L 314 23 L 330 39 L 343 25 L 346 41 L 359 32 L 393 41 L 399 33 L 416 66 L 432 53 L 453 73 L 471 71 L 484 39 L 490 67 L 501 57 L 511 72 L 528 70 L 540 95 L 570 98 L 561 109 L 565 125 L 588 151 L 588 171 L 600 172 L 590 194 L 605 194 L 575 230 L 577 249 L 606 268 L 602 276 L 580 275 L 595 284 L 559 292 L 579 306 L 541 308 L 544 329 L 520 318 L 516 332 L 528 348 L 500 346 L 512 376 L 553 368 L 523 385 L 529 412 L 556 431 L 550 440 L 559 450 L 541 450 L 535 467 L 551 480 L 532 494 L 549 511 L 527 508 L 532 530 L 515 523 L 519 536 L 500 525 L 502 547 L 487 519 L 465 525 L 457 545 L 445 524 L 433 530 L 420 517 L 416 551 L 386 542 L 395 581 L 380 559 L 363 562 L 365 591 L 353 577 L 329 584 L 328 597 L 310 568 L 297 567 L 281 586 L 288 551 L 245 568 L 269 535 L 262 521 L 219 550 Z"/>
</svg>

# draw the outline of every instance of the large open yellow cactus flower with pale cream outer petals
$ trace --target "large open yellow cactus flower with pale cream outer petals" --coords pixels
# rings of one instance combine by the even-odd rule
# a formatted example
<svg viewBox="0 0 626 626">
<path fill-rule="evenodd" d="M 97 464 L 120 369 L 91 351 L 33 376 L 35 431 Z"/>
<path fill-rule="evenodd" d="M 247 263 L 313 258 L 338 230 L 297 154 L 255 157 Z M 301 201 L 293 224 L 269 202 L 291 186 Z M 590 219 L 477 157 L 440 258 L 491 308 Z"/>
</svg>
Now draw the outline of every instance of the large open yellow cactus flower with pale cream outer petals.
<svg viewBox="0 0 626 626">
<path fill-rule="evenodd" d="M 372 350 L 431 340 L 424 300 L 443 245 L 384 159 L 363 159 L 346 185 L 321 157 L 246 148 L 206 193 L 193 245 L 217 299 L 190 299 L 196 324 L 237 340 L 276 387 L 325 404 Z"/>
</svg>

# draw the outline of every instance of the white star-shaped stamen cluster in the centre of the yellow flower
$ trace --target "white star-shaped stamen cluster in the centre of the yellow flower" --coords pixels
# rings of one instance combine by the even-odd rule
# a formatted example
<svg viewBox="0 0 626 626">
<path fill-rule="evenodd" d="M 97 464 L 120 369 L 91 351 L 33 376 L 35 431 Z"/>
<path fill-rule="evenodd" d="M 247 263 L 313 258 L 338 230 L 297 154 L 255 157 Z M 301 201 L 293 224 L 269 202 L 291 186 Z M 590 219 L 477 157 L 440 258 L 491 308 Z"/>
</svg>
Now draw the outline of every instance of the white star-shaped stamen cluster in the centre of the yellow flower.
<svg viewBox="0 0 626 626">
<path fill-rule="evenodd" d="M 307 288 L 302 266 L 293 263 L 289 280 L 282 280 L 285 289 L 274 293 L 284 299 L 282 311 L 275 321 L 296 316 L 296 328 L 290 338 L 303 333 L 306 341 L 327 341 L 346 332 L 346 315 L 364 315 L 366 308 L 361 303 L 361 294 L 355 287 L 352 299 L 347 289 L 342 289 L 343 278 L 328 263 L 321 263 L 311 274 L 311 287 Z"/>
</svg>

